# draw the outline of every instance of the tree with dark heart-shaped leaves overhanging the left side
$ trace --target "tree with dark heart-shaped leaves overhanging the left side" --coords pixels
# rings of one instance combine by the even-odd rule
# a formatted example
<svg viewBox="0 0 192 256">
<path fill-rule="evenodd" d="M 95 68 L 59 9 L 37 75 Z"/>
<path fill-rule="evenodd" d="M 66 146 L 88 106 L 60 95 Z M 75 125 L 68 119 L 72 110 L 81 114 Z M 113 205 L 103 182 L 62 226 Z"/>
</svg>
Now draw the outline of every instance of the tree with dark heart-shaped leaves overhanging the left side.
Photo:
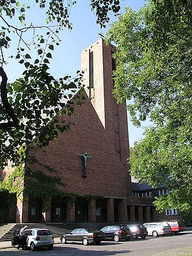
<svg viewBox="0 0 192 256">
<path fill-rule="evenodd" d="M 74 104 L 81 104 L 84 100 L 81 90 L 76 97 L 71 98 L 71 93 L 83 87 L 82 74 L 79 71 L 74 79 L 70 76 L 56 79 L 49 71 L 52 51 L 56 45 L 60 44 L 59 32 L 63 28 L 72 29 L 69 20 L 70 8 L 76 4 L 76 1 L 36 0 L 35 2 L 40 9 L 47 8 L 45 26 L 35 27 L 33 24 L 26 24 L 29 5 L 21 5 L 16 0 L 3 0 L 0 3 L 0 18 L 3 22 L 0 31 L 1 168 L 6 163 L 6 159 L 10 159 L 13 163 L 17 161 L 17 152 L 22 145 L 35 143 L 38 147 L 44 147 L 49 144 L 49 141 L 56 140 L 59 132 L 70 129 L 70 123 L 58 123 L 58 116 L 72 115 Z M 101 27 L 106 26 L 105 22 L 109 22 L 108 12 L 110 10 L 116 14 L 120 9 L 118 0 L 91 0 L 90 6 L 92 10 L 95 10 L 97 23 Z M 17 20 L 20 22 L 19 27 L 13 25 L 15 22 L 17 24 Z M 36 31 L 40 30 L 44 30 L 44 34 L 38 35 Z M 26 41 L 27 33 L 31 33 L 32 42 Z M 17 40 L 17 52 L 12 52 L 12 47 L 10 47 L 12 39 Z M 36 51 L 35 58 L 31 53 L 29 54 L 31 49 Z M 18 77 L 11 84 L 7 84 L 6 73 L 3 69 L 7 61 L 4 54 L 6 51 L 10 52 L 10 60 L 18 60 L 25 68 L 23 76 Z M 70 94 L 66 95 L 68 90 Z"/>
</svg>

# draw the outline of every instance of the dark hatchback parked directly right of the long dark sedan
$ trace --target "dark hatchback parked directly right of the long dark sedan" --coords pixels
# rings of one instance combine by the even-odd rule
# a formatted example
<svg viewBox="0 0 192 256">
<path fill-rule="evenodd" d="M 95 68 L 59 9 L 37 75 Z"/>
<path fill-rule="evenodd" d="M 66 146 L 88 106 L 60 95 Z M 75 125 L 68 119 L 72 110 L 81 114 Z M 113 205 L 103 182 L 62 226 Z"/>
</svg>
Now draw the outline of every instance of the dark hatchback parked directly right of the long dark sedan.
<svg viewBox="0 0 192 256">
<path fill-rule="evenodd" d="M 104 232 L 106 239 L 112 239 L 118 242 L 122 239 L 129 241 L 131 239 L 131 232 L 127 225 L 111 225 L 103 227 L 100 231 Z"/>
</svg>

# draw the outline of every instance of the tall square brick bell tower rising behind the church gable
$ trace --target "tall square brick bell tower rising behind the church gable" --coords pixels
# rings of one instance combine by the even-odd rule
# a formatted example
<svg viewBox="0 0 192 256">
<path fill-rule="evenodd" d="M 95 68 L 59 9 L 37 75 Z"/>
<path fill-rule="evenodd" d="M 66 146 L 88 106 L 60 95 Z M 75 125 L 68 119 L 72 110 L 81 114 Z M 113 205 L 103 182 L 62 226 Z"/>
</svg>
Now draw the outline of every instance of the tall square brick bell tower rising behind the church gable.
<svg viewBox="0 0 192 256">
<path fill-rule="evenodd" d="M 81 54 L 81 70 L 86 93 L 109 139 L 115 147 L 116 154 L 123 164 L 127 164 L 129 156 L 129 136 L 127 126 L 127 109 L 125 104 L 116 104 L 113 97 L 113 70 L 116 47 L 108 46 L 100 38 L 97 42 L 83 50 Z M 101 141 L 102 143 L 102 141 Z"/>
</svg>

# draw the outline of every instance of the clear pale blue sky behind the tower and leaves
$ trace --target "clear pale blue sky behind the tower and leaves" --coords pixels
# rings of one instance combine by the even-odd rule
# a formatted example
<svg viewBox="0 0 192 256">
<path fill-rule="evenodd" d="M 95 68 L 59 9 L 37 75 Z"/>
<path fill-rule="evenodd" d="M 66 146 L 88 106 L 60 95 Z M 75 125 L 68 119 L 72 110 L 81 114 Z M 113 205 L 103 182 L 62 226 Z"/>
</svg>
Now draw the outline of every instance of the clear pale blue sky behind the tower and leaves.
<svg viewBox="0 0 192 256">
<path fill-rule="evenodd" d="M 31 8 L 26 12 L 26 22 L 28 22 L 28 24 L 32 22 L 33 26 L 46 25 L 45 11 L 40 11 L 36 4 L 31 4 L 34 2 L 34 0 L 22 2 L 31 5 Z M 137 11 L 141 8 L 141 6 L 143 6 L 144 3 L 146 3 L 144 0 L 120 0 L 120 12 L 124 13 L 124 8 L 127 6 L 127 4 L 131 6 L 133 10 Z M 89 0 L 77 0 L 77 4 L 72 6 L 72 10 L 70 12 L 70 21 L 73 24 L 72 31 L 63 29 L 63 31 L 60 33 L 60 46 L 54 48 L 50 65 L 51 74 L 57 78 L 63 77 L 66 74 L 74 76 L 76 71 L 81 69 L 81 52 L 83 49 L 97 41 L 100 38 L 100 32 L 102 32 L 102 35 L 106 35 L 109 29 L 108 24 L 106 29 L 100 29 L 99 24 L 96 23 L 95 14 L 90 10 L 89 4 Z M 113 15 L 113 13 L 109 13 L 109 18 L 110 22 L 118 19 Z M 11 20 L 10 22 L 17 26 L 17 20 Z M 1 22 L 0 26 L 4 26 L 4 24 Z M 41 33 L 41 31 L 39 33 Z M 28 38 L 31 40 L 30 36 L 31 35 L 28 35 Z M 17 52 L 17 44 L 15 44 L 15 42 L 18 42 L 17 38 L 10 42 L 10 49 Z M 8 58 L 8 54 L 10 54 L 8 51 L 4 54 L 5 58 Z M 33 52 L 31 52 L 31 56 L 33 56 Z M 7 60 L 8 65 L 5 65 L 3 68 L 8 76 L 8 81 L 12 82 L 15 80 L 15 78 L 21 76 L 23 69 L 22 65 L 20 65 L 17 61 L 13 61 L 13 59 L 11 60 L 10 58 Z M 142 138 L 143 127 L 148 125 L 148 122 L 141 124 L 140 128 L 136 128 L 131 124 L 129 113 L 127 114 L 129 144 L 132 147 L 134 141 L 138 141 Z"/>
</svg>

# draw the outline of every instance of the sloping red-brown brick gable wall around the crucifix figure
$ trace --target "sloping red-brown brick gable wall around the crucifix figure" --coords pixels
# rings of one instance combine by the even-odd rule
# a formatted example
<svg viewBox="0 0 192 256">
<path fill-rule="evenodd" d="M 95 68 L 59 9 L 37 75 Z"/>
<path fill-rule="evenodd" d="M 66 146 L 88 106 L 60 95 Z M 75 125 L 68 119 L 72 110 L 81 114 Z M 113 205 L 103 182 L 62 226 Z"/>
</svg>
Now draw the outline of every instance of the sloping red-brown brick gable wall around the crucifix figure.
<svg viewBox="0 0 192 256">
<path fill-rule="evenodd" d="M 83 106 L 76 108 L 76 113 L 76 118 L 63 117 L 75 123 L 70 131 L 60 134 L 58 140 L 42 150 L 35 148 L 31 154 L 39 163 L 46 163 L 57 171 L 56 175 L 66 184 L 66 192 L 126 198 L 126 170 L 88 97 Z M 88 177 L 83 179 L 83 164 L 78 153 L 85 152 L 94 158 L 88 159 Z M 31 168 L 55 175 L 38 164 Z"/>
</svg>

